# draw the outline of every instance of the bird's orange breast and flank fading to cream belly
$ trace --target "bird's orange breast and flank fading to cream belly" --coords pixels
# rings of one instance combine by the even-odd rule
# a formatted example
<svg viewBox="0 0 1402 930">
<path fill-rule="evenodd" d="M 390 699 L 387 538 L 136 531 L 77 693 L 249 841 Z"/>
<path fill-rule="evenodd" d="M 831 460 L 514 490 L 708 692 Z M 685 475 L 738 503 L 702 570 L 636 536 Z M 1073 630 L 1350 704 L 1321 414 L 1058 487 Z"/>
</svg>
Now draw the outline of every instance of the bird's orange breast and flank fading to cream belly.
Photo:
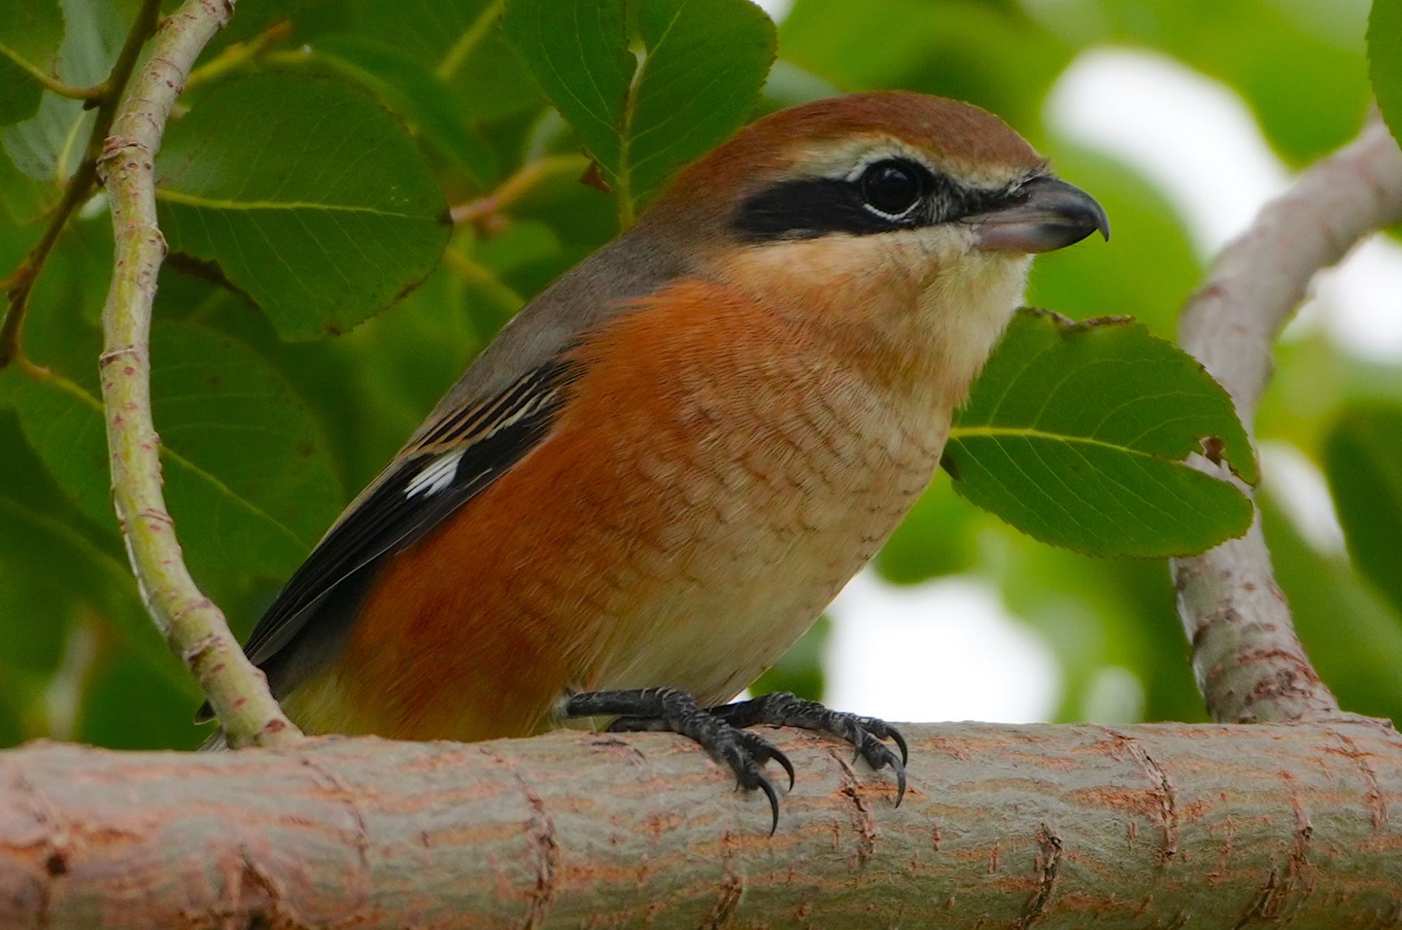
<svg viewBox="0 0 1402 930">
<path fill-rule="evenodd" d="M 342 656 L 286 701 L 300 724 L 485 739 L 540 729 L 566 687 L 723 700 L 875 553 L 944 440 L 712 285 L 578 355 L 551 435 L 381 570 Z"/>
</svg>

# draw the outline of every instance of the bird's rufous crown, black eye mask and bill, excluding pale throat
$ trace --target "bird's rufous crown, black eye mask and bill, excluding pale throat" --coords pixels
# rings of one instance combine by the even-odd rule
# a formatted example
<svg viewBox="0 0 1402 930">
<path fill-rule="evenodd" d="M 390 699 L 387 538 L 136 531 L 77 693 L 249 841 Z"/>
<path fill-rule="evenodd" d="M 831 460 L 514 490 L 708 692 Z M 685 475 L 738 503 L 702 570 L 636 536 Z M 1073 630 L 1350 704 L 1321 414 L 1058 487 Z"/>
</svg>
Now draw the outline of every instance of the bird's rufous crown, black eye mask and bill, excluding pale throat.
<svg viewBox="0 0 1402 930">
<path fill-rule="evenodd" d="M 1043 252 L 1110 231 L 1001 119 L 904 91 L 765 116 L 687 168 L 655 212 L 750 243 L 939 226 L 981 251 Z"/>
</svg>

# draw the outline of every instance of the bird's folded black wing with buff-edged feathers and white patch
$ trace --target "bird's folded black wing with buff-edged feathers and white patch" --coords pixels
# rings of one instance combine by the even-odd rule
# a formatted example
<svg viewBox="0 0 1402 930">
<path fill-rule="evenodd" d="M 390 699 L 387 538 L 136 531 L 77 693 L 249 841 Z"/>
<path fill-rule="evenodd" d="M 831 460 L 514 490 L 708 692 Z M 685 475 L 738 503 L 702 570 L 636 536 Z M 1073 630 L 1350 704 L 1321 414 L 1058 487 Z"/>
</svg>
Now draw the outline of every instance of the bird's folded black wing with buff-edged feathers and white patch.
<svg viewBox="0 0 1402 930">
<path fill-rule="evenodd" d="M 336 520 L 258 621 L 244 651 L 266 665 L 338 586 L 433 529 L 548 432 L 573 365 L 552 360 L 486 400 L 437 417 Z"/>
</svg>

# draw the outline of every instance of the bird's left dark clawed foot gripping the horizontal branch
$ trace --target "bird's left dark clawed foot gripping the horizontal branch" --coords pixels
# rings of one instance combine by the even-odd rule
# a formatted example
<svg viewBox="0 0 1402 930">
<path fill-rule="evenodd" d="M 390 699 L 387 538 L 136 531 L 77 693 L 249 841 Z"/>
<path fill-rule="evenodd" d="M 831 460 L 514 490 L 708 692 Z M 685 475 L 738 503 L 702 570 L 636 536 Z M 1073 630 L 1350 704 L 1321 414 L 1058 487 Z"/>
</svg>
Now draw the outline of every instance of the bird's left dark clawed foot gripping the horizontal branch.
<svg viewBox="0 0 1402 930">
<path fill-rule="evenodd" d="M 737 787 L 758 788 L 770 800 L 773 823 L 770 836 L 780 825 L 780 797 L 774 783 L 764 773 L 764 763 L 774 760 L 782 766 L 794 787 L 794 764 L 767 739 L 744 729 L 719 713 L 737 704 L 705 710 L 694 697 L 674 687 L 644 687 L 631 692 L 583 692 L 565 700 L 566 717 L 599 717 L 618 714 L 608 725 L 613 732 L 666 731 L 690 736 L 718 763 L 729 766 Z"/>
</svg>

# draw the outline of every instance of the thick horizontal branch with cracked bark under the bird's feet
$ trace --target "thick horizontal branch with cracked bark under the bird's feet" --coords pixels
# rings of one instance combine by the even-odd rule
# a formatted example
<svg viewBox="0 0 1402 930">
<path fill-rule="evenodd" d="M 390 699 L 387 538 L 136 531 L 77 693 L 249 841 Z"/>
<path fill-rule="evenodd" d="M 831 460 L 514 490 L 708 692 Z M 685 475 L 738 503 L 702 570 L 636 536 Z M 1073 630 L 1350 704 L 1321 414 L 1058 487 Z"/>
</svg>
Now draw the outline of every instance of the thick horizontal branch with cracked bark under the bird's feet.
<svg viewBox="0 0 1402 930">
<path fill-rule="evenodd" d="M 0 755 L 0 926 L 1378 927 L 1402 736 L 914 725 L 910 791 L 791 731 L 778 833 L 665 734 Z"/>
</svg>

